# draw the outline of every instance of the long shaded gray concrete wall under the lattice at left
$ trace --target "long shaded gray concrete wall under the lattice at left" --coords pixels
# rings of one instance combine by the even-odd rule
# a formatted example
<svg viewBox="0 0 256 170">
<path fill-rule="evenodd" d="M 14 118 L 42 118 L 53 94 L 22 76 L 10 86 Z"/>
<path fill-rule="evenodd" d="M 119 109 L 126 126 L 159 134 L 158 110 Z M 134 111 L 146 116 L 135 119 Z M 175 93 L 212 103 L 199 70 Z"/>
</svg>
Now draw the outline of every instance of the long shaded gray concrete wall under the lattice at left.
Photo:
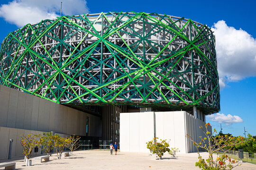
<svg viewBox="0 0 256 170">
<path fill-rule="evenodd" d="M 91 114 L 0 85 L 0 127 L 85 136 L 101 136 L 101 119 Z"/>
</svg>

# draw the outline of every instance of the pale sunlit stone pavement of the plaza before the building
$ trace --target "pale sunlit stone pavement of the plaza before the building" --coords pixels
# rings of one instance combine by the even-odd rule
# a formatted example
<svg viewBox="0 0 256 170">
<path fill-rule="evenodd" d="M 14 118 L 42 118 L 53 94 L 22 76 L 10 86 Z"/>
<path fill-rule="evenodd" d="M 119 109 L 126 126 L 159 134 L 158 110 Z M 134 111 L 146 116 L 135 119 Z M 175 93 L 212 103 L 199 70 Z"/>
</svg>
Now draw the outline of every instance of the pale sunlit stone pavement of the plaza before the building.
<svg viewBox="0 0 256 170">
<path fill-rule="evenodd" d="M 201 155 L 207 157 L 208 154 Z M 18 170 L 199 170 L 194 166 L 198 160 L 197 153 L 178 153 L 177 156 L 173 158 L 165 154 L 163 160 L 155 160 L 148 153 L 118 152 L 117 155 L 110 155 L 108 151 L 91 150 L 75 151 L 61 160 L 57 160 L 56 154 L 53 154 L 50 161 L 42 163 L 31 158 L 33 166 L 30 167 L 23 166 L 24 157 L 15 158 L 13 161 L 16 162 Z M 0 160 L 5 161 L 8 160 Z M 245 162 L 234 170 L 256 170 L 256 165 Z"/>
</svg>

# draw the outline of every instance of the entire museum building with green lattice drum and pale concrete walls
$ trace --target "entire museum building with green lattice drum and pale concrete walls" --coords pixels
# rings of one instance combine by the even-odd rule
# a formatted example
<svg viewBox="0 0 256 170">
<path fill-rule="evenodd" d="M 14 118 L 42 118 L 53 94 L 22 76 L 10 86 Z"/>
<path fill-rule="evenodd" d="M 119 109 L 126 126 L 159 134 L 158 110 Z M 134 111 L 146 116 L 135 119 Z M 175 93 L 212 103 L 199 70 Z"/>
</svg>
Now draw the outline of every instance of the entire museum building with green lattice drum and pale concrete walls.
<svg viewBox="0 0 256 170">
<path fill-rule="evenodd" d="M 194 152 L 219 111 L 215 36 L 184 17 L 108 12 L 46 19 L 0 46 L 0 158 L 19 136 L 54 131 L 148 152 L 153 137 Z M 136 147 L 135 143 L 138 143 Z"/>
</svg>

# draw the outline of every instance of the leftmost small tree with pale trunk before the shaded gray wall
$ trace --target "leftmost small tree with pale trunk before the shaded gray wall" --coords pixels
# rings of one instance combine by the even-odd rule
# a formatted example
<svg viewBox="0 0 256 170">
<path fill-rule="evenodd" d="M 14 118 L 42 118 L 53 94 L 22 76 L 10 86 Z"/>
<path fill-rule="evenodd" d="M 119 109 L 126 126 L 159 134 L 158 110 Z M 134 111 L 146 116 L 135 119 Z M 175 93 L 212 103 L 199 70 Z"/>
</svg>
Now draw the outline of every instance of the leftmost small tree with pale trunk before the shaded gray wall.
<svg viewBox="0 0 256 170">
<path fill-rule="evenodd" d="M 23 147 L 23 154 L 26 156 L 26 166 L 29 166 L 29 158 L 31 157 L 32 150 L 34 147 L 38 146 L 38 138 L 40 135 L 38 134 L 28 134 L 27 136 L 21 136 L 20 144 Z"/>
</svg>

